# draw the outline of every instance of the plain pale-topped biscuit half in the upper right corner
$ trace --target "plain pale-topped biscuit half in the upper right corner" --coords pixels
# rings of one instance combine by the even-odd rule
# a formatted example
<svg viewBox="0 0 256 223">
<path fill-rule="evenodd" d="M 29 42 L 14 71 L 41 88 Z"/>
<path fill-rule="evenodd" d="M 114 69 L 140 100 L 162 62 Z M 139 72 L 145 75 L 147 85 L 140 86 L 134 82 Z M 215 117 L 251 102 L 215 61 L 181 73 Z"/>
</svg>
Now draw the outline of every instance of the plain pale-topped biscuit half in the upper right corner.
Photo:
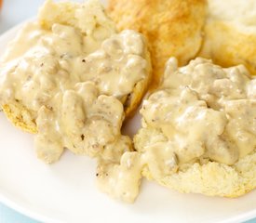
<svg viewBox="0 0 256 223">
<path fill-rule="evenodd" d="M 256 74 L 256 1 L 209 0 L 200 56 L 224 66 L 244 64 Z"/>
</svg>

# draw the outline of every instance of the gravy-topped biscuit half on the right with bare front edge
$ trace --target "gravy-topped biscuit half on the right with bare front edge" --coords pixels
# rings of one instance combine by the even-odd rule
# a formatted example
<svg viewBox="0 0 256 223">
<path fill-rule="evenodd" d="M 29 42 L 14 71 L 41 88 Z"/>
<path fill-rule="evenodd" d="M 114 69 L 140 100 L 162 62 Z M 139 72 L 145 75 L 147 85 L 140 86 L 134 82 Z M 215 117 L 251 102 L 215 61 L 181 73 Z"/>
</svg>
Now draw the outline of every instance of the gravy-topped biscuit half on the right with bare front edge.
<svg viewBox="0 0 256 223">
<path fill-rule="evenodd" d="M 143 175 L 182 192 L 237 197 L 256 187 L 256 80 L 208 59 L 178 68 L 141 108 L 134 138 Z"/>
</svg>

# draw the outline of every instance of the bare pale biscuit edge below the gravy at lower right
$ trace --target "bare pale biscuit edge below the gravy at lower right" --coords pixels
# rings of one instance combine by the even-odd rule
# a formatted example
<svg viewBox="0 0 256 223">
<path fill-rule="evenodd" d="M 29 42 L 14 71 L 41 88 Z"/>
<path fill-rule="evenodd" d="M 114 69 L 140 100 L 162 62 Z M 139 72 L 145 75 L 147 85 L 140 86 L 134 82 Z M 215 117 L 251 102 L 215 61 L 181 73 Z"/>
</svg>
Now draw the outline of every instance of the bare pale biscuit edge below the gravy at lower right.
<svg viewBox="0 0 256 223">
<path fill-rule="evenodd" d="M 155 130 L 143 129 L 134 138 L 135 147 L 143 148 Z M 154 178 L 148 168 L 142 175 L 160 185 L 182 193 L 200 193 L 208 196 L 235 198 L 256 188 L 256 151 L 252 151 L 236 164 L 230 166 L 209 162 L 191 164 L 175 174 Z"/>
</svg>

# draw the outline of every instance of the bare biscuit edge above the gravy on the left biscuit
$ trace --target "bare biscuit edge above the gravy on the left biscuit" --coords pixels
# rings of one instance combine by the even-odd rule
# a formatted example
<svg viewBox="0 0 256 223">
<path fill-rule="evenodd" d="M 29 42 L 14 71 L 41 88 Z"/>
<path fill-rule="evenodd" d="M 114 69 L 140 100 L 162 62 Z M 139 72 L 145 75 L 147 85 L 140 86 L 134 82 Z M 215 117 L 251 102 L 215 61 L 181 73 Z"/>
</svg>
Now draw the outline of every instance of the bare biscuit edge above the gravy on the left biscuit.
<svg viewBox="0 0 256 223">
<path fill-rule="evenodd" d="M 102 39 L 115 33 L 115 23 L 105 15 L 98 0 L 90 0 L 84 4 L 47 0 L 39 10 L 38 20 L 46 29 L 51 29 L 54 23 L 61 23 L 73 26 L 85 34 L 93 33 L 98 27 L 104 29 L 104 34 L 99 36 Z"/>
</svg>

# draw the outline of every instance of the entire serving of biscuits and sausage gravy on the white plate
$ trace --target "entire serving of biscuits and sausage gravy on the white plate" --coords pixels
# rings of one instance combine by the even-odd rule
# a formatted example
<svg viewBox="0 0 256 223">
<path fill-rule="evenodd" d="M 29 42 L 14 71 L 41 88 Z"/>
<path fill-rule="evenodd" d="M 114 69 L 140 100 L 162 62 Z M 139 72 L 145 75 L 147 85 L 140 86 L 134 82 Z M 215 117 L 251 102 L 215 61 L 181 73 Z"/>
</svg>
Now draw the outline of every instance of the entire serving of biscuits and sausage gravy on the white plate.
<svg viewBox="0 0 256 223">
<path fill-rule="evenodd" d="M 142 177 L 186 193 L 241 196 L 256 188 L 254 56 L 220 27 L 253 28 L 251 17 L 233 24 L 221 5 L 226 11 L 219 1 L 110 0 L 116 31 L 97 0 L 47 0 L 1 58 L 0 106 L 35 134 L 47 164 L 65 149 L 96 158 L 97 184 L 116 199 L 133 203 Z M 123 123 L 151 79 L 132 140 Z"/>
</svg>

